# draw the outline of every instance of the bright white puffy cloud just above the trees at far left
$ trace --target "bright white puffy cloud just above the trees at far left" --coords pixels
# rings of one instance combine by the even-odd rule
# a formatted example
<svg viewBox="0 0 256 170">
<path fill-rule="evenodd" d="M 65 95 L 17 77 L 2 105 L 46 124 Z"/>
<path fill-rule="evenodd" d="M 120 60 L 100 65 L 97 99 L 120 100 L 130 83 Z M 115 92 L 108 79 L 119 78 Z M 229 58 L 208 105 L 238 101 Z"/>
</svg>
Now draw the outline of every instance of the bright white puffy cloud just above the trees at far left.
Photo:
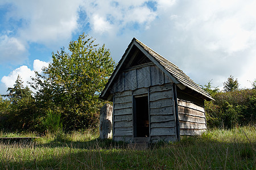
<svg viewBox="0 0 256 170">
<path fill-rule="evenodd" d="M 34 71 L 38 71 L 40 73 L 40 69 L 42 69 L 43 66 L 47 67 L 48 63 L 40 61 L 39 59 L 35 59 L 33 64 L 34 70 L 29 69 L 27 66 L 20 66 L 19 68 L 11 71 L 9 75 L 3 76 L 1 82 L 5 84 L 6 89 L 8 87 L 13 87 L 16 79 L 18 78 L 18 75 L 20 75 L 20 78 L 22 78 L 23 86 L 30 87 L 27 82 L 31 82 L 31 76 L 35 76 Z"/>
</svg>

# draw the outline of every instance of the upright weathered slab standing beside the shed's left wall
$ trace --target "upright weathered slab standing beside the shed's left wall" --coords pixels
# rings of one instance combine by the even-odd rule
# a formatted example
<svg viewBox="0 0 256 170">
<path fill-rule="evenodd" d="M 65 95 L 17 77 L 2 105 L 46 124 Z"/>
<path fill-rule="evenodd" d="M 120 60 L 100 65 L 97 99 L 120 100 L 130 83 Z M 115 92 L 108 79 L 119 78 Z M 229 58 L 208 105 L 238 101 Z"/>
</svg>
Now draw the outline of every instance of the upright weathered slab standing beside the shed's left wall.
<svg viewBox="0 0 256 170">
<path fill-rule="evenodd" d="M 100 111 L 100 138 L 109 139 L 112 137 L 112 110 L 110 104 L 105 104 Z"/>
</svg>

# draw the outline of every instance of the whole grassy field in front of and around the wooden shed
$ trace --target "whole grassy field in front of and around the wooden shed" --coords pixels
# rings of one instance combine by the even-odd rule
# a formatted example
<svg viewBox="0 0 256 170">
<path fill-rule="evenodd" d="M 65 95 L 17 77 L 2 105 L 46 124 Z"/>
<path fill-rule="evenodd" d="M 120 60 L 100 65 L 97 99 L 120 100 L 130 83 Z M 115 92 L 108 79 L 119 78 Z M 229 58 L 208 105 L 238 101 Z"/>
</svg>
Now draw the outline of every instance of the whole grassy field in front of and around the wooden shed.
<svg viewBox="0 0 256 170">
<path fill-rule="evenodd" d="M 0 137 L 36 134 L 0 132 Z M 47 134 L 34 142 L 0 143 L 0 169 L 255 169 L 256 128 L 208 130 L 176 143 L 133 150 L 98 133 Z"/>
</svg>

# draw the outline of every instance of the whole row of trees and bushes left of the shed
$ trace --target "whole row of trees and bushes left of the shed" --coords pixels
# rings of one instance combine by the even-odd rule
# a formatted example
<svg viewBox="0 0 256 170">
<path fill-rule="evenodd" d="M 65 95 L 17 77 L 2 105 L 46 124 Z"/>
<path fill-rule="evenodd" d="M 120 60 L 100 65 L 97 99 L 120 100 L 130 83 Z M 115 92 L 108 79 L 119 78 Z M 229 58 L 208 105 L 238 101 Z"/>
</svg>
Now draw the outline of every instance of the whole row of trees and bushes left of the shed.
<svg viewBox="0 0 256 170">
<path fill-rule="evenodd" d="M 80 35 L 69 43 L 68 52 L 61 48 L 52 53 L 49 66 L 31 78 L 35 93 L 18 76 L 9 94 L 0 97 L 0 129 L 42 133 L 96 127 L 106 103 L 98 96 L 114 67 L 109 49 Z"/>
</svg>

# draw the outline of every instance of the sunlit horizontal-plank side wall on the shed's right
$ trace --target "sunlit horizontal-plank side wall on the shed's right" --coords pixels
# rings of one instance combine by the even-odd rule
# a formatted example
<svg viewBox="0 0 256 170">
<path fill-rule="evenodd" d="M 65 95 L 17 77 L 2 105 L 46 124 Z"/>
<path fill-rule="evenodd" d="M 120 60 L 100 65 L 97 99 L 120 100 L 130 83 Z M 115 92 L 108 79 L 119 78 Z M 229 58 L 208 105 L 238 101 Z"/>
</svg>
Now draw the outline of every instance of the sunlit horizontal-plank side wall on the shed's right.
<svg viewBox="0 0 256 170">
<path fill-rule="evenodd" d="M 178 99 L 180 135 L 200 135 L 207 129 L 204 107 Z"/>
</svg>

